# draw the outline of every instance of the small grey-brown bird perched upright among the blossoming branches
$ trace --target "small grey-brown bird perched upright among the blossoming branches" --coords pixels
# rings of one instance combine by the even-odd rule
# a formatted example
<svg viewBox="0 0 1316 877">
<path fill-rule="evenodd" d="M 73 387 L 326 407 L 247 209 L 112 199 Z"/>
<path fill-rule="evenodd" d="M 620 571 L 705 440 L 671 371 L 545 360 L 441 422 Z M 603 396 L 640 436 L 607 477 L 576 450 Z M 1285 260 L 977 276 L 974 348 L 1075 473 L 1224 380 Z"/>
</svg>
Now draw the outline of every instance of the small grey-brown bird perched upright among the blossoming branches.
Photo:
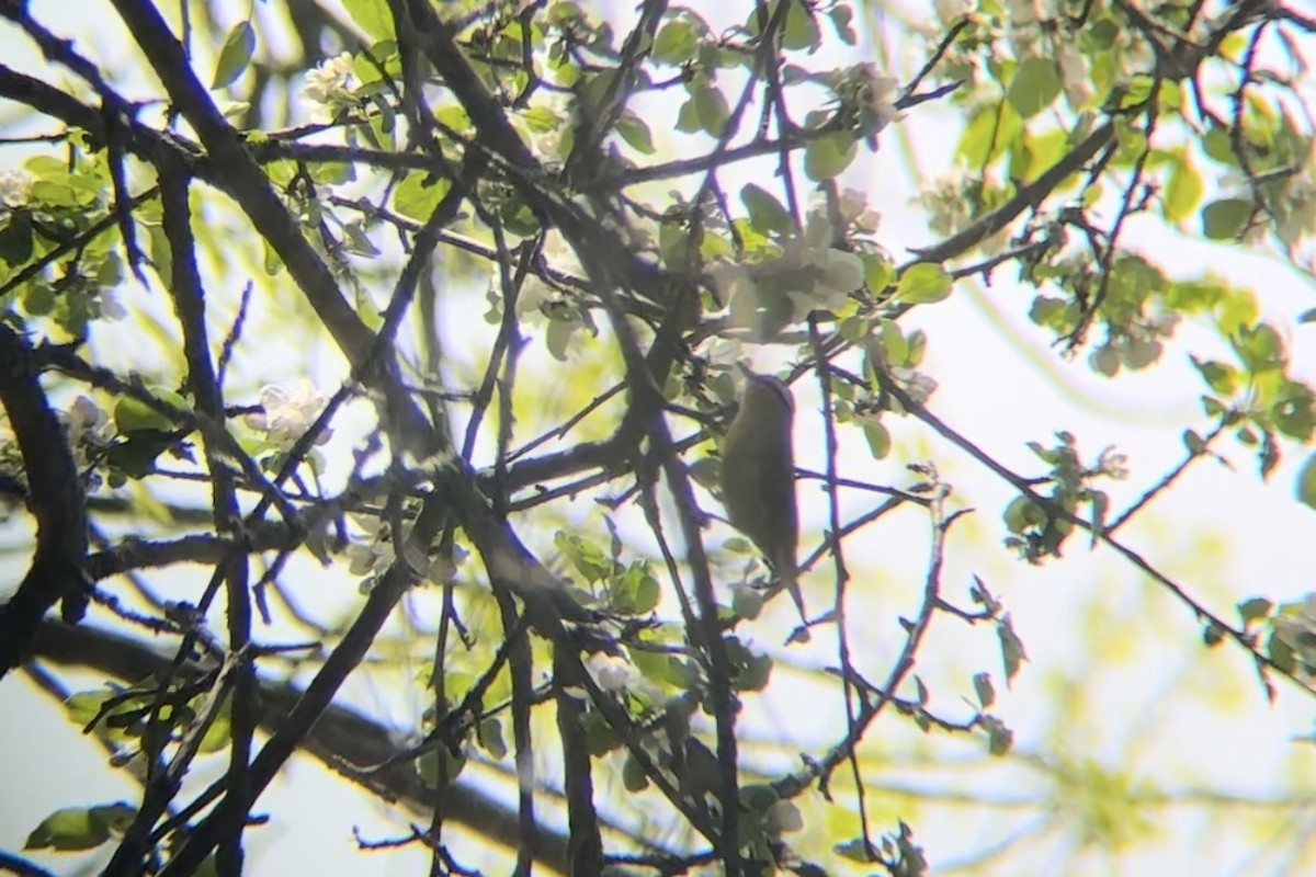
<svg viewBox="0 0 1316 877">
<path fill-rule="evenodd" d="M 722 440 L 722 505 L 730 525 L 749 536 L 808 623 L 796 581 L 800 523 L 795 508 L 795 400 L 782 381 L 740 367 L 740 412 Z"/>
</svg>

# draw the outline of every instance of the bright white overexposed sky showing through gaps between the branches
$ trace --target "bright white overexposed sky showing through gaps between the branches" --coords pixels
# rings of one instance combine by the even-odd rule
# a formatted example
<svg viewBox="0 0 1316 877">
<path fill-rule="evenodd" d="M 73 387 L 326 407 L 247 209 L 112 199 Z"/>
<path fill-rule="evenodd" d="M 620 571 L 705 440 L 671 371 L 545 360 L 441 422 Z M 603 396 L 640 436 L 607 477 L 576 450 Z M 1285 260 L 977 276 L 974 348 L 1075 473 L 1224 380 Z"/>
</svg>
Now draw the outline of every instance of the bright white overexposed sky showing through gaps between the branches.
<svg viewBox="0 0 1316 877">
<path fill-rule="evenodd" d="M 720 4 L 707 14 L 741 5 Z M 76 37 L 79 47 L 92 58 L 117 60 L 121 29 L 108 4 L 95 7 L 97 12 L 89 13 L 82 3 L 68 0 L 34 4 L 43 21 L 62 34 Z M 72 14 L 74 11 L 79 14 Z M 632 13 L 622 8 L 617 14 L 629 20 Z M 880 57 L 874 42 L 895 47 L 892 58 L 901 79 L 921 63 L 917 41 L 895 29 L 870 33 L 880 36 L 865 45 L 862 53 L 829 49 L 826 59 L 817 57 L 812 63 L 830 66 Z M 30 46 L 12 29 L 0 28 L 0 54 L 20 70 L 41 68 Z M 58 74 L 57 79 L 62 76 Z M 1308 105 L 1313 105 L 1316 91 L 1308 89 L 1307 96 Z M 0 118 L 9 121 L 12 113 L 11 107 L 0 105 Z M 654 133 L 666 134 L 661 125 L 654 125 Z M 867 192 L 870 204 L 882 212 L 879 239 L 898 260 L 905 247 L 934 241 L 923 213 L 911 206 L 911 199 L 920 189 L 921 175 L 930 178 L 950 168 L 957 138 L 958 120 L 951 113 L 940 112 L 936 105 L 919 108 L 883 133 L 876 155 L 861 154 L 846 175 L 844 184 Z M 916 167 L 911 166 L 915 158 Z M 18 150 L 0 151 L 0 168 L 18 163 Z M 771 164 L 746 166 L 740 176 L 724 175 L 722 183 L 736 191 L 744 181 L 769 179 L 771 172 Z M 1204 246 L 1142 220 L 1129 229 L 1125 241 L 1134 242 L 1130 246 L 1171 273 L 1195 276 L 1209 266 L 1212 272 L 1250 285 L 1259 293 L 1265 318 L 1278 325 L 1292 325 L 1298 313 L 1312 306 L 1309 279 L 1277 259 Z M 999 271 L 991 288 L 962 283 L 948 302 L 920 308 L 903 321 L 908 327 L 923 327 L 930 338 L 923 371 L 940 387 L 929 408 L 1024 475 L 1041 471 L 1025 442 L 1049 444 L 1057 429 L 1075 433 L 1087 459 L 1095 459 L 1105 446 L 1116 446 L 1129 456 L 1130 476 L 1124 483 L 1109 483 L 1108 489 L 1112 508 L 1123 509 L 1182 458 L 1183 427 L 1200 431 L 1208 426 L 1198 406 L 1200 381 L 1187 351 L 1198 355 L 1228 351 L 1204 327 L 1188 325 L 1178 337 L 1187 339 L 1186 343 L 1155 368 L 1104 380 L 1094 376 L 1083 362 L 1054 359 L 1049 338 L 1026 320 L 1030 300 L 1029 291 L 1011 281 L 1009 271 Z M 461 327 L 461 333 L 449 333 L 450 341 L 467 331 L 465 322 L 453 320 L 447 325 Z M 1316 352 L 1305 337 L 1312 331 L 1316 329 L 1300 326 L 1288 338 L 1295 371 L 1308 380 L 1316 380 Z M 533 363 L 534 355 L 526 363 Z M 765 352 L 762 364 L 778 362 L 772 356 Z M 338 368 L 332 356 L 324 356 L 316 359 L 312 371 L 321 387 L 332 392 Z M 820 447 L 817 418 L 809 417 L 817 408 L 811 388 L 812 381 L 805 380 L 797 389 L 801 465 L 811 465 L 807 456 L 817 454 Z M 871 460 L 862 439 L 850 443 L 844 458 L 846 475 L 899 486 L 912 481 L 903 468 L 905 463 L 934 460 L 944 479 L 954 484 L 958 501 L 978 509 L 951 531 L 944 576 L 946 593 L 962 597 L 970 577 L 982 576 L 1005 601 L 1030 657 L 1013 690 L 1005 692 L 991 631 L 966 630 L 938 619 L 919 672 L 934 692 L 940 710 L 966 718 L 958 698 L 971 694 L 973 672 L 988 669 L 1000 696 L 994 711 L 1015 730 L 1020 753 L 1065 753 L 1075 761 L 1091 759 L 1109 768 L 1125 765 L 1140 781 L 1177 790 L 1207 789 L 1265 798 L 1311 788 L 1316 780 L 1311 749 L 1294 742 L 1311 728 L 1311 698 L 1280 685 L 1278 703 L 1267 706 L 1244 655 L 1227 647 L 1203 652 L 1196 622 L 1187 611 L 1109 551 L 1088 552 L 1080 539 L 1073 539 L 1063 563 L 1042 568 L 1020 564 L 1000 547 L 999 510 L 1011 490 L 913 421 L 888 421 L 888 425 L 896 438 L 896 454 L 878 463 Z M 1288 452 L 1269 485 L 1262 485 L 1253 475 L 1255 464 L 1249 452 L 1229 443 L 1221 444 L 1221 452 L 1233 464 L 1232 469 L 1199 462 L 1169 496 L 1128 526 L 1123 539 L 1227 617 L 1233 602 L 1246 596 L 1265 594 L 1278 601 L 1300 597 L 1312 586 L 1311 552 L 1303 546 L 1316 527 L 1312 513 L 1292 501 L 1294 475 L 1304 455 Z M 821 463 L 815 468 L 821 468 Z M 815 525 L 815 540 L 817 527 L 826 519 L 821 496 L 800 486 L 805 522 Z M 866 501 L 855 501 L 855 508 Z M 857 597 L 854 617 L 873 619 L 854 631 L 862 640 L 857 660 L 874 678 L 886 676 L 903 642 L 898 617 L 916 607 L 926 563 L 926 521 L 907 510 L 848 546 L 851 563 L 857 561 L 866 576 L 854 585 L 862 594 Z M 812 548 L 808 539 L 805 548 Z M 18 571 L 24 563 L 20 559 L 12 568 Z M 317 582 L 322 589 L 317 600 L 329 601 L 316 604 L 325 615 L 336 610 L 334 597 L 326 593 L 338 594 L 343 606 L 355 598 L 351 584 L 333 586 L 324 579 Z M 807 585 L 812 602 L 821 602 L 829 593 L 825 573 L 811 575 Z M 783 606 L 782 611 L 790 607 Z M 834 663 L 834 648 L 826 636 L 816 638 L 805 650 L 783 652 L 775 644 L 780 638 L 774 639 L 770 632 L 771 628 L 762 634 L 761 644 L 783 661 L 799 660 L 809 667 Z M 1095 667 L 1098 650 L 1100 665 Z M 780 672 L 782 678 L 790 676 L 786 668 Z M 424 693 L 384 692 L 359 676 L 350 686 L 354 702 L 388 711 L 400 727 L 415 721 Z M 97 682 L 86 678 L 72 688 Z M 1082 694 L 1080 702 L 1070 699 L 1075 692 Z M 801 726 L 794 721 L 801 715 L 801 699 L 812 697 L 820 697 L 819 689 L 791 676 L 788 685 L 750 702 L 747 736 L 784 736 L 815 746 L 833 740 L 838 727 Z M 840 715 L 830 697 L 819 701 L 825 705 L 821 709 L 805 713 Z M 0 685 L 0 713 L 16 717 L 0 723 L 0 776 L 9 778 L 7 792 L 0 793 L 0 847 L 21 848 L 36 820 L 55 807 L 136 799 L 137 786 L 109 772 L 101 751 L 80 739 L 59 709 L 29 682 L 14 676 Z M 938 740 L 928 746 L 894 718 L 876 726 L 871 746 L 873 752 L 892 760 L 888 769 L 870 777 L 875 786 L 929 794 L 967 789 L 994 799 L 1029 797 L 1048 788 L 1045 780 L 1030 778 L 1020 759 L 984 763 L 978 757 L 976 742 Z M 757 755 L 754 748 L 750 755 Z M 220 767 L 208 769 L 217 772 Z M 890 827 L 894 818 L 904 815 L 938 868 L 949 868 L 961 857 L 979 855 L 1028 830 L 1026 819 L 1008 811 L 983 817 L 969 807 L 919 805 L 917 813 L 907 814 L 892 799 L 882 801 L 879 818 L 887 820 L 884 824 Z M 351 826 L 359 826 L 366 836 L 390 836 L 404 830 L 405 817 L 390 814 L 309 761 L 295 761 L 283 781 L 262 799 L 262 806 L 275 819 L 270 827 L 250 835 L 254 874 L 403 874 L 416 873 L 422 860 L 418 853 L 408 852 L 357 855 Z M 815 813 L 822 810 L 809 815 Z M 1282 853 L 1266 849 L 1270 838 L 1249 831 L 1250 823 L 1237 823 L 1211 822 L 1190 809 L 1171 809 L 1158 820 L 1159 840 L 1146 841 L 1117 859 L 1084 859 L 1080 866 L 1073 866 L 1069 857 L 1073 847 L 1069 835 L 1044 835 L 1034 839 L 1026 859 L 1009 860 L 1015 865 L 1009 873 L 1186 873 L 1191 868 L 1195 873 L 1228 874 L 1258 873 L 1277 865 L 1271 856 Z M 37 859 L 57 869 L 71 861 Z"/>
</svg>

